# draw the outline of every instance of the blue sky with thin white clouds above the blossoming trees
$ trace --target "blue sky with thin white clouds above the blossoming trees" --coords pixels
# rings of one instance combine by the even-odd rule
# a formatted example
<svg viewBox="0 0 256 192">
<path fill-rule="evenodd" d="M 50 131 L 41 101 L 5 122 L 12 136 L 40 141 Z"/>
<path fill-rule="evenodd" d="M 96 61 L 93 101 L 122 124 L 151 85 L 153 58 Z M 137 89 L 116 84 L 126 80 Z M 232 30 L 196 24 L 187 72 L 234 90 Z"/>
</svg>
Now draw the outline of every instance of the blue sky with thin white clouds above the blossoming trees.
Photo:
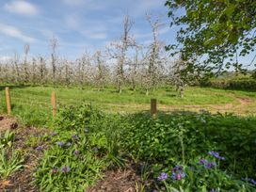
<svg viewBox="0 0 256 192">
<path fill-rule="evenodd" d="M 75 58 L 86 50 L 102 49 L 120 38 L 122 19 L 129 14 L 138 42 L 152 40 L 145 14 L 161 16 L 160 39 L 173 42 L 165 0 L 0 0 L 0 56 L 22 55 L 29 43 L 31 55 L 49 55 L 49 39 L 58 40 L 59 55 Z"/>
</svg>

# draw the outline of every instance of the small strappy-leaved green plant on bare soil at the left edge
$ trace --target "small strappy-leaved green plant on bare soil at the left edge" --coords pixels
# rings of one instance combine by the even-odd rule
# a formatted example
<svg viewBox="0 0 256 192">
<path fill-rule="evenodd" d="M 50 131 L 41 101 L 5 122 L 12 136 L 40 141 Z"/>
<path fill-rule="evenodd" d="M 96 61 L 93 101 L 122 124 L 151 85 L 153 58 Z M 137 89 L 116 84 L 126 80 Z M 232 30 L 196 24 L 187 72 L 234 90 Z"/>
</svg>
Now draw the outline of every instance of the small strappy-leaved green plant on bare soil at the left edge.
<svg viewBox="0 0 256 192">
<path fill-rule="evenodd" d="M 23 168 L 24 159 L 18 152 L 14 150 L 2 149 L 0 153 L 0 176 L 2 179 L 7 179 L 10 174 Z"/>
</svg>

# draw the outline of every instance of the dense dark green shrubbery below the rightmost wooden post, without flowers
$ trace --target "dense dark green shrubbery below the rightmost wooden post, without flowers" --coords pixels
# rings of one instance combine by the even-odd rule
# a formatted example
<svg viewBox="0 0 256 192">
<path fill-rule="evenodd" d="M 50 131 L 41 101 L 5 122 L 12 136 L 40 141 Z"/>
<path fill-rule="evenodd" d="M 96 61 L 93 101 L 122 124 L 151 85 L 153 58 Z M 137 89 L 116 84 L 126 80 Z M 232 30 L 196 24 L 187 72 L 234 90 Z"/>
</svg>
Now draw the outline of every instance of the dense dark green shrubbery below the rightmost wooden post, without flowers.
<svg viewBox="0 0 256 192">
<path fill-rule="evenodd" d="M 239 176 L 256 176 L 256 120 L 233 115 L 172 113 L 152 120 L 136 114 L 124 130 L 123 149 L 136 159 L 173 166 L 216 150 L 227 156 L 222 165 Z"/>
</svg>

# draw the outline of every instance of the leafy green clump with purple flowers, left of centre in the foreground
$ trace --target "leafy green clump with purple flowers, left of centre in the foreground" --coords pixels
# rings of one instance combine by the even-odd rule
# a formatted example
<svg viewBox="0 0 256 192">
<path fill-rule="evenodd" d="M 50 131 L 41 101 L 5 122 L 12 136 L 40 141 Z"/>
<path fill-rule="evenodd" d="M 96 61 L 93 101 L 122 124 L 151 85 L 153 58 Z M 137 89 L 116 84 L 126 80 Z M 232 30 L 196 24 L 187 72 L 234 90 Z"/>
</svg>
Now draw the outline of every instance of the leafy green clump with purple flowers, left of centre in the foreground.
<svg viewBox="0 0 256 192">
<path fill-rule="evenodd" d="M 54 122 L 51 148 L 35 174 L 40 190 L 84 191 L 102 178 L 105 168 L 120 163 L 111 140 L 115 133 L 107 131 L 115 123 L 110 120 L 90 105 L 61 110 Z"/>
</svg>

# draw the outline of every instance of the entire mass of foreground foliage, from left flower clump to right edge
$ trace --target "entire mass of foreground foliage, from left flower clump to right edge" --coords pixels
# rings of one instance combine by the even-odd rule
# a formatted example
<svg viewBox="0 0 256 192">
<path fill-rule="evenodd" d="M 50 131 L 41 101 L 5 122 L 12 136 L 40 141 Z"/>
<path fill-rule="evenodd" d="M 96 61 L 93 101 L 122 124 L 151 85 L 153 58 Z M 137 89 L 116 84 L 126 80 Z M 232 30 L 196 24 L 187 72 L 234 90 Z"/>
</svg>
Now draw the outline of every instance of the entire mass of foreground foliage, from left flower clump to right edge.
<svg viewBox="0 0 256 192">
<path fill-rule="evenodd" d="M 205 111 L 152 119 L 142 113 L 108 115 L 86 104 L 71 106 L 53 124 L 52 147 L 40 161 L 35 183 L 44 191 L 83 191 L 105 168 L 133 160 L 150 165 L 148 177 L 155 180 L 151 190 L 253 191 L 255 124 L 252 117 Z M 184 169 L 173 169 L 177 165 Z"/>
</svg>

